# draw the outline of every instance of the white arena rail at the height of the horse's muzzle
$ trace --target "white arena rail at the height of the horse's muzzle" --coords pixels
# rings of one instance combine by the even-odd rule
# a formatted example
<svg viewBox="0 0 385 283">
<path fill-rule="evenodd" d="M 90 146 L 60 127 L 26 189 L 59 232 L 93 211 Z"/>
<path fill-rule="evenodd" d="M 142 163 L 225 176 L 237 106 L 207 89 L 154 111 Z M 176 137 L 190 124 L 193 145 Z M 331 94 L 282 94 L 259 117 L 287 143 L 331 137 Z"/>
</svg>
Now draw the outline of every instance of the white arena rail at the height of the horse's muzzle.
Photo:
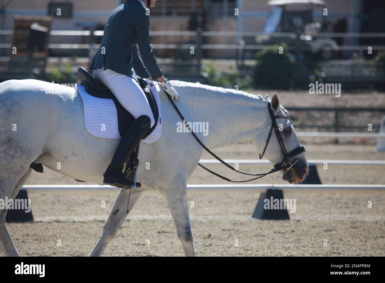
<svg viewBox="0 0 385 283">
<path fill-rule="evenodd" d="M 228 164 L 242 164 L 242 165 L 263 165 L 271 164 L 267 159 L 224 159 L 224 162 Z M 322 160 L 322 159 L 309 159 L 310 165 L 323 165 L 324 163 L 335 165 L 385 165 L 385 160 Z M 216 159 L 201 159 L 199 161 L 202 165 L 218 165 L 222 164 Z"/>
</svg>

